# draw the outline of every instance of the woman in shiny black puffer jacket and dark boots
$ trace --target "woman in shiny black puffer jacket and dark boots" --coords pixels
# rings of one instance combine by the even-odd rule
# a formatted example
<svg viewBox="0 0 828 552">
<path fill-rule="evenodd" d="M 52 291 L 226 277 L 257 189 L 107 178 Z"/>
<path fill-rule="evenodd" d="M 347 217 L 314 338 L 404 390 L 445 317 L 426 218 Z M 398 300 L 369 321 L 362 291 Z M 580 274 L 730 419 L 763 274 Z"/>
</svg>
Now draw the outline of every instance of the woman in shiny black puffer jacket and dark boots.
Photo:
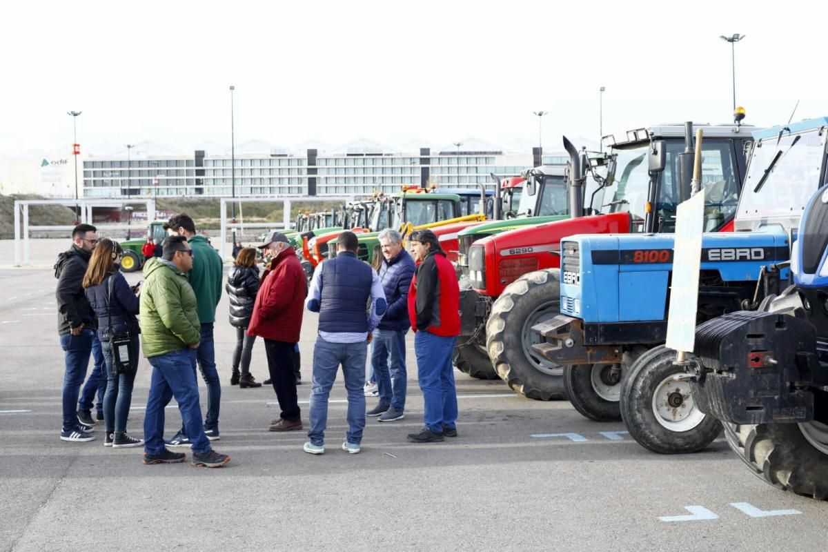
<svg viewBox="0 0 828 552">
<path fill-rule="evenodd" d="M 233 373 L 230 385 L 239 387 L 261 387 L 250 373 L 250 355 L 253 352 L 255 335 L 248 335 L 250 316 L 259 287 L 256 247 L 243 247 L 227 274 L 227 295 L 230 299 L 230 325 L 236 329 L 236 348 L 233 351 Z M 241 372 L 239 372 L 239 367 Z"/>
</svg>

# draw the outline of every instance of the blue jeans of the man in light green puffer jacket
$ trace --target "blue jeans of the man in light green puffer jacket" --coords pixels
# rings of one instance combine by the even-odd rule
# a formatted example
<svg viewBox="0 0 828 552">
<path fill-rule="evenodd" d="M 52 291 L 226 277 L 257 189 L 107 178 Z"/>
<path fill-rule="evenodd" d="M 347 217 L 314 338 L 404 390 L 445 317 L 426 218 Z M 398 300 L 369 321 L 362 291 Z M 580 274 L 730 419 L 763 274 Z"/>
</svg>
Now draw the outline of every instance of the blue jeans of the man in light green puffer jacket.
<svg viewBox="0 0 828 552">
<path fill-rule="evenodd" d="M 211 450 L 204 425 L 201 425 L 199 386 L 195 381 L 195 351 L 181 349 L 157 357 L 147 358 L 152 367 L 152 382 L 144 415 L 144 452 L 156 456 L 164 450 L 164 407 L 175 396 L 186 435 L 193 444 L 193 452 L 204 454 Z"/>
</svg>

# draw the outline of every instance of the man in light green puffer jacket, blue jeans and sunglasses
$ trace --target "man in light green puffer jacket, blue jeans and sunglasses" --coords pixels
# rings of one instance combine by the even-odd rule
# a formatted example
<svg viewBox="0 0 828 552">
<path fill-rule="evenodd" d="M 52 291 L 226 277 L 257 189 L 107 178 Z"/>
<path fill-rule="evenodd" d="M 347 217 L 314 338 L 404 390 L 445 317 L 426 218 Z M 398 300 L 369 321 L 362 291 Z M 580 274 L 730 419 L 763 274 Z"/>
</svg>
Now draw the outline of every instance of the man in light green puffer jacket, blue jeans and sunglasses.
<svg viewBox="0 0 828 552">
<path fill-rule="evenodd" d="M 193 370 L 201 333 L 195 292 L 187 281 L 193 255 L 184 237 L 171 236 L 164 240 L 164 257 L 152 258 L 144 265 L 142 349 L 154 368 L 144 415 L 144 463 L 176 463 L 186 458 L 164 446 L 164 407 L 175 396 L 186 434 L 192 437 L 192 464 L 218 468 L 230 457 L 210 447 L 201 424 L 199 386 Z"/>
</svg>

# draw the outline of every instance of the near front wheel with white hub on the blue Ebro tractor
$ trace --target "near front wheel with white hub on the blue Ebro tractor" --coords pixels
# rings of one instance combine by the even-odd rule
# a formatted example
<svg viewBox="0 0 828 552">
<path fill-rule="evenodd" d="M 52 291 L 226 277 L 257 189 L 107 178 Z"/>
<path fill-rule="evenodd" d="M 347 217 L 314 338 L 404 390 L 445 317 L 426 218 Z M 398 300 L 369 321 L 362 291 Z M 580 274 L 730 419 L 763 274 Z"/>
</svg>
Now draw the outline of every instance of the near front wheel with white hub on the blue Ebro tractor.
<svg viewBox="0 0 828 552">
<path fill-rule="evenodd" d="M 695 453 L 713 442 L 721 424 L 696 407 L 690 382 L 676 352 L 659 345 L 644 353 L 621 381 L 621 417 L 629 434 L 645 449 L 659 454 Z"/>
</svg>

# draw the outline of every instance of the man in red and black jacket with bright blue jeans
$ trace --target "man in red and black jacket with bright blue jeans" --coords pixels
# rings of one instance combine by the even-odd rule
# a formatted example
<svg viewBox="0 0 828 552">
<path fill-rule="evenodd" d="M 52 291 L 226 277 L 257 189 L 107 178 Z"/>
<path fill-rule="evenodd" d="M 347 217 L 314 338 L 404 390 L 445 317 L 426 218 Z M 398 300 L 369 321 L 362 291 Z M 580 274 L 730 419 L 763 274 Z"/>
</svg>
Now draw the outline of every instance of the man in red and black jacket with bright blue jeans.
<svg viewBox="0 0 828 552">
<path fill-rule="evenodd" d="M 457 436 L 457 390 L 451 353 L 460 335 L 460 287 L 457 273 L 445 258 L 431 230 L 411 235 L 416 272 L 408 289 L 416 354 L 417 379 L 424 403 L 425 427 L 408 435 L 412 443 Z"/>
</svg>

